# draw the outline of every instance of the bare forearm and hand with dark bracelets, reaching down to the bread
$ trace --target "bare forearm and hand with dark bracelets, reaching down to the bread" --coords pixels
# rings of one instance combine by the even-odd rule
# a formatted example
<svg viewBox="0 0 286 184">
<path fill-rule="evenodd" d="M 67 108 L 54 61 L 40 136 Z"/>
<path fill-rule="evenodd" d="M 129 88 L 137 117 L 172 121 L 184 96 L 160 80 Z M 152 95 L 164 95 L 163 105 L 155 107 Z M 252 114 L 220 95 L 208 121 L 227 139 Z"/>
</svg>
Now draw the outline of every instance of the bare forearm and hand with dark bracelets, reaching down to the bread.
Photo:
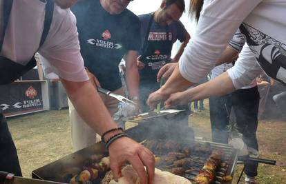
<svg viewBox="0 0 286 184">
<path fill-rule="evenodd" d="M 73 82 L 61 79 L 61 82 L 79 115 L 95 132 L 102 135 L 117 127 L 90 81 Z M 116 133 L 118 132 L 106 134 L 106 140 Z M 129 161 L 139 174 L 142 183 L 152 183 L 155 161 L 148 149 L 132 139 L 122 137 L 114 141 L 108 151 L 115 179 L 120 178 L 122 165 L 125 161 Z M 144 170 L 144 165 L 148 175 Z"/>
</svg>

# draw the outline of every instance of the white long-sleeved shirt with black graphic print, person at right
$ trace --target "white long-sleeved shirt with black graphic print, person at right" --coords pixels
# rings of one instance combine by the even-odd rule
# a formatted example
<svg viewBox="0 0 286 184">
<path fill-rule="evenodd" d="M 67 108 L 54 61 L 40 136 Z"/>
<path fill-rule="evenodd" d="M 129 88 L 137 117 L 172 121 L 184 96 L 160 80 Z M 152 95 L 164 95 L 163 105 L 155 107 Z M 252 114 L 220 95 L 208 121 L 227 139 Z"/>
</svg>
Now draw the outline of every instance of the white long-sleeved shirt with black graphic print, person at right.
<svg viewBox="0 0 286 184">
<path fill-rule="evenodd" d="M 215 66 L 233 34 L 242 25 L 246 30 L 242 34 L 247 35 L 249 48 L 263 70 L 286 83 L 286 61 L 281 59 L 286 57 L 285 15 L 286 1 L 281 0 L 208 1 L 202 8 L 197 37 L 189 42 L 180 59 L 180 73 L 188 81 L 198 82 Z M 250 59 L 240 61 L 240 65 L 236 63 L 229 72 L 238 73 L 241 67 L 245 70 L 240 73 L 243 75 L 233 78 L 234 75 L 229 73 L 237 89 L 249 84 L 260 72 L 256 62 Z"/>
</svg>

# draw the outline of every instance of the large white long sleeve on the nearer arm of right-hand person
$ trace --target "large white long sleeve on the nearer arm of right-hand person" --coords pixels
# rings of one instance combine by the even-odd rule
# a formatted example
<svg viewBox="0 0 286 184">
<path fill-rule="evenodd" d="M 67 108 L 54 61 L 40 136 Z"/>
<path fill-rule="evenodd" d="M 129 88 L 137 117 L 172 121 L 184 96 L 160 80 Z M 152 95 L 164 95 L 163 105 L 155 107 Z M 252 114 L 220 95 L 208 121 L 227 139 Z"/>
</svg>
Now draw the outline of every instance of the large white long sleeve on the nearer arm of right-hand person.
<svg viewBox="0 0 286 184">
<path fill-rule="evenodd" d="M 198 83 L 211 71 L 239 25 L 260 1 L 204 1 L 196 37 L 189 41 L 179 61 L 184 79 Z"/>
</svg>

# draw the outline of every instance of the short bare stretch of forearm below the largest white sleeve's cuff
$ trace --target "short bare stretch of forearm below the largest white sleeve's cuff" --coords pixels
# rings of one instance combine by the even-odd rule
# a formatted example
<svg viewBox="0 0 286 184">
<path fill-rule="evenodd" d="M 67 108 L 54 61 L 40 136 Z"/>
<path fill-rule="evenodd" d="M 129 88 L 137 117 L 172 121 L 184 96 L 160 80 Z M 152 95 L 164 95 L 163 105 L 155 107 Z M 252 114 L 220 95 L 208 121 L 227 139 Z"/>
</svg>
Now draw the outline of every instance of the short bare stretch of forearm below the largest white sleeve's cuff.
<svg viewBox="0 0 286 184">
<path fill-rule="evenodd" d="M 184 77 L 180 74 L 179 64 L 177 63 L 175 70 L 160 90 L 163 94 L 168 96 L 169 94 L 186 90 L 193 84 L 194 83 L 184 79 Z"/>
</svg>

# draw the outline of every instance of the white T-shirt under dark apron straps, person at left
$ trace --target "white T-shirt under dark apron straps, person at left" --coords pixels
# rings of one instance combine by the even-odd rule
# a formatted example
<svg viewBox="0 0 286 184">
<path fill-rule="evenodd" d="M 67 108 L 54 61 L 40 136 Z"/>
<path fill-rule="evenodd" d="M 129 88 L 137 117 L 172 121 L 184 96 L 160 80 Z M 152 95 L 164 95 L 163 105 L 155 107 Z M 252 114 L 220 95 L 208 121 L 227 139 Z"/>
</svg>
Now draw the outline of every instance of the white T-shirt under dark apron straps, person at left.
<svg viewBox="0 0 286 184">
<path fill-rule="evenodd" d="M 1 56 L 21 65 L 30 61 L 39 48 L 44 29 L 45 6 L 46 3 L 39 0 L 13 1 Z M 0 16 L 3 16 L 2 5 Z M 2 19 L 0 21 L 3 22 Z M 0 37 L 1 34 L 0 32 Z M 77 35 L 73 13 L 55 5 L 48 36 L 38 50 L 46 59 L 43 62 L 45 74 L 54 72 L 68 81 L 88 80 Z"/>
</svg>

